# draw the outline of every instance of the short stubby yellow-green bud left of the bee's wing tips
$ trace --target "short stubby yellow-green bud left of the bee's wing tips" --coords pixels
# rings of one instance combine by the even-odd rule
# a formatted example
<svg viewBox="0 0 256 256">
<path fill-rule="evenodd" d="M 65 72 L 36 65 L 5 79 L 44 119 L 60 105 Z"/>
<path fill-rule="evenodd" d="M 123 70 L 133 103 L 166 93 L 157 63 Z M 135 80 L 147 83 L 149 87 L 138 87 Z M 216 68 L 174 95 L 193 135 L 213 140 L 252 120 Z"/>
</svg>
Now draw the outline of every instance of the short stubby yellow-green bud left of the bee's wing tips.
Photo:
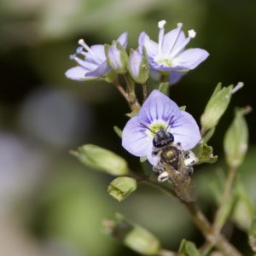
<svg viewBox="0 0 256 256">
<path fill-rule="evenodd" d="M 117 177 L 108 186 L 108 193 L 118 201 L 124 200 L 137 189 L 137 181 L 132 177 Z"/>
</svg>

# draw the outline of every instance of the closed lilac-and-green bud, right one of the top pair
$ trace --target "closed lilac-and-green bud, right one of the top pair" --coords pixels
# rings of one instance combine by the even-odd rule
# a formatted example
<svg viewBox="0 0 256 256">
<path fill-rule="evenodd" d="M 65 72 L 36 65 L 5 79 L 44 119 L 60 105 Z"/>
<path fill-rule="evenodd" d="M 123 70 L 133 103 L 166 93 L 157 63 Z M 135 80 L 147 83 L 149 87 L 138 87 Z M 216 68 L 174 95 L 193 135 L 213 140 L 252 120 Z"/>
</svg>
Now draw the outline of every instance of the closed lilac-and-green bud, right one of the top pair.
<svg viewBox="0 0 256 256">
<path fill-rule="evenodd" d="M 149 64 L 148 56 L 144 46 L 143 55 L 141 55 L 137 50 L 131 49 L 128 66 L 132 79 L 134 79 L 138 84 L 144 84 L 147 81 L 149 74 Z"/>
</svg>

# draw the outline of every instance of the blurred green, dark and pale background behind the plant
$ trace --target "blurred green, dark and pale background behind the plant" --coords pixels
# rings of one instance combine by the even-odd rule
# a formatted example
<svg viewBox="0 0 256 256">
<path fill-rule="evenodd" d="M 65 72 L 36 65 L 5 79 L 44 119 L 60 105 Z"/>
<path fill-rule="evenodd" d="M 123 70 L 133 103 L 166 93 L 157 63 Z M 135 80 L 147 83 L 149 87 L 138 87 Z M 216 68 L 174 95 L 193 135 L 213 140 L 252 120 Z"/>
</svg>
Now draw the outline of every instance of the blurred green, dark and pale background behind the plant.
<svg viewBox="0 0 256 256">
<path fill-rule="evenodd" d="M 183 205 L 140 184 L 119 203 L 107 193 L 113 177 L 89 170 L 68 153 L 93 143 L 122 155 L 135 172 L 139 160 L 121 147 L 113 125 L 125 126 L 129 108 L 113 84 L 79 83 L 64 73 L 74 67 L 69 55 L 84 38 L 110 44 L 128 32 L 127 49 L 137 48 L 140 32 L 157 41 L 157 22 L 166 32 L 183 22 L 195 29 L 189 47 L 207 49 L 207 61 L 170 90 L 179 106 L 200 122 L 216 84 L 244 82 L 231 100 L 209 144 L 218 163 L 198 166 L 193 179 L 199 204 L 212 219 L 215 203 L 210 174 L 227 170 L 223 137 L 235 107 L 255 107 L 256 2 L 251 0 L 2 0 L 0 2 L 0 255 L 137 255 L 102 233 L 102 219 L 120 212 L 177 250 L 186 238 L 203 238 Z M 141 95 L 141 88 L 137 89 Z M 240 167 L 242 180 L 256 200 L 256 124 L 247 115 L 250 143 Z M 247 236 L 226 225 L 244 253 Z"/>
</svg>

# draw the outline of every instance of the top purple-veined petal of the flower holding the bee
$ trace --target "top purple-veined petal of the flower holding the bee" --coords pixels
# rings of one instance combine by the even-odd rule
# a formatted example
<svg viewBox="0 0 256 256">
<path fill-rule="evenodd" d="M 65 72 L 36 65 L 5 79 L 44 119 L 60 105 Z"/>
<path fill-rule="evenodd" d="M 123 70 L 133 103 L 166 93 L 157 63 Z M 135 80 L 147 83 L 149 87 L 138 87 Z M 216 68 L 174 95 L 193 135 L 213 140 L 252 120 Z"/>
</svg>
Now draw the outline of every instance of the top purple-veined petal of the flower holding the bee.
<svg viewBox="0 0 256 256">
<path fill-rule="evenodd" d="M 166 123 L 175 121 L 180 116 L 177 104 L 159 90 L 153 90 L 138 115 L 138 121 L 144 125 L 149 125 L 156 120 L 164 120 Z"/>
</svg>

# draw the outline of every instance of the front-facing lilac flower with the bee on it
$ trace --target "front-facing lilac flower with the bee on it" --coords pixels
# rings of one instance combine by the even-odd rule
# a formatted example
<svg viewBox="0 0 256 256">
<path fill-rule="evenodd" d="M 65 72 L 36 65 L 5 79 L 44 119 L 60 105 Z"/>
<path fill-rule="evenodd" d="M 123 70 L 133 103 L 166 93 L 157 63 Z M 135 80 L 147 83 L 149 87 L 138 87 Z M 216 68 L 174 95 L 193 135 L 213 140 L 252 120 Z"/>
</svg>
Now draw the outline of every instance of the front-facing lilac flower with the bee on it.
<svg viewBox="0 0 256 256">
<path fill-rule="evenodd" d="M 150 164 L 155 166 L 158 158 L 152 155 L 152 151 L 156 150 L 153 139 L 160 129 L 171 132 L 173 143 L 181 143 L 183 150 L 194 148 L 201 140 L 195 119 L 189 113 L 179 110 L 177 104 L 159 90 L 153 90 L 138 115 L 125 125 L 122 145 L 131 154 L 140 157 L 147 155 Z"/>
</svg>

